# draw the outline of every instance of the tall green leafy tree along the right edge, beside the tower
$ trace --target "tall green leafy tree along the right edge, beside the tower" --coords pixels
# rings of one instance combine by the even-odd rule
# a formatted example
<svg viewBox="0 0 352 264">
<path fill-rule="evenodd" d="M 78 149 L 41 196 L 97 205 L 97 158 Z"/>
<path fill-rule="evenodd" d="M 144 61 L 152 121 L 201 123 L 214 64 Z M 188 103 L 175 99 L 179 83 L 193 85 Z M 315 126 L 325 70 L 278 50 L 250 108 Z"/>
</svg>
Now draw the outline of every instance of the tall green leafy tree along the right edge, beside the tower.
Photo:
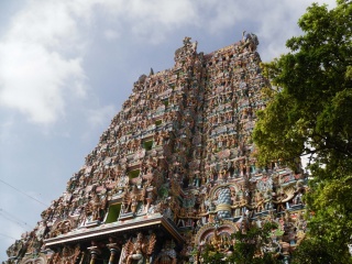
<svg viewBox="0 0 352 264">
<path fill-rule="evenodd" d="M 262 165 L 282 161 L 297 168 L 297 158 L 309 155 L 306 250 L 329 245 L 311 257 L 323 253 L 330 255 L 324 263 L 351 263 L 351 1 L 338 0 L 332 10 L 315 3 L 298 25 L 302 35 L 287 41 L 290 52 L 263 65 L 272 87 L 263 90 L 267 107 L 257 112 L 253 140 Z"/>
</svg>

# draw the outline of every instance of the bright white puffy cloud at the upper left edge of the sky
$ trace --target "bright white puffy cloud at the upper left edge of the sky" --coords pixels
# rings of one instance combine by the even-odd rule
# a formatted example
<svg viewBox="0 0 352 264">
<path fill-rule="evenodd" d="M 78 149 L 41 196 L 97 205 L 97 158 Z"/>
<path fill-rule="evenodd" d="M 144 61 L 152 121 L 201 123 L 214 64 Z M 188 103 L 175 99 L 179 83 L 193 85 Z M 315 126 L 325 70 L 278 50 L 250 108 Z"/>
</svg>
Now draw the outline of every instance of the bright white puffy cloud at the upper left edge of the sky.
<svg viewBox="0 0 352 264">
<path fill-rule="evenodd" d="M 35 1 L 19 12 L 0 40 L 0 106 L 35 123 L 65 113 L 65 94 L 85 95 L 85 74 L 76 50 L 77 23 L 67 7 Z"/>
</svg>

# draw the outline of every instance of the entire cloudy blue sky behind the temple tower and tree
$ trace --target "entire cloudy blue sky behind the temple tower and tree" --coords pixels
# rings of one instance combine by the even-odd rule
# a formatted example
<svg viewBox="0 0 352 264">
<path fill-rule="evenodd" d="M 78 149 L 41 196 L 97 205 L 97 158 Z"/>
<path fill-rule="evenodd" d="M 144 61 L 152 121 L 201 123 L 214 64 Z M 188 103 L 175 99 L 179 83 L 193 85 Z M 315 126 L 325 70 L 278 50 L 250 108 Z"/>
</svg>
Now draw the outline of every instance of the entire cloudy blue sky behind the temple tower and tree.
<svg viewBox="0 0 352 264">
<path fill-rule="evenodd" d="M 170 68 L 185 36 L 210 53 L 253 32 L 267 62 L 300 34 L 311 2 L 1 1 L 0 261 L 65 191 L 133 82 L 151 67 Z"/>
</svg>

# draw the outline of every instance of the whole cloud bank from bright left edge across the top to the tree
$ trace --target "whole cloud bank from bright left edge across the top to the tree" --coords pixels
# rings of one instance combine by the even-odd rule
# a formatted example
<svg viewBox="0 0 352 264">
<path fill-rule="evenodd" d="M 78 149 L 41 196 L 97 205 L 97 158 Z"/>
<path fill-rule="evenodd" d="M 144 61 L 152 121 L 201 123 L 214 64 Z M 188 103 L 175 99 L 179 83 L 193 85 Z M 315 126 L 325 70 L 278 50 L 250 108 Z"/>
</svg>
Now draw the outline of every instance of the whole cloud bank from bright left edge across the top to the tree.
<svg viewBox="0 0 352 264">
<path fill-rule="evenodd" d="M 333 6 L 332 0 L 321 2 Z M 14 109 L 35 123 L 53 123 L 63 117 L 67 95 L 79 99 L 87 94 L 82 61 L 98 14 L 107 20 L 101 29 L 106 40 L 117 40 L 123 31 L 154 44 L 180 26 L 216 34 L 230 26 L 251 31 L 240 21 L 253 22 L 260 24 L 255 33 L 268 43 L 265 57 L 273 57 L 285 51 L 283 40 L 296 34 L 292 24 L 306 6 L 304 0 L 29 1 L 0 38 L 0 107 Z"/>
</svg>

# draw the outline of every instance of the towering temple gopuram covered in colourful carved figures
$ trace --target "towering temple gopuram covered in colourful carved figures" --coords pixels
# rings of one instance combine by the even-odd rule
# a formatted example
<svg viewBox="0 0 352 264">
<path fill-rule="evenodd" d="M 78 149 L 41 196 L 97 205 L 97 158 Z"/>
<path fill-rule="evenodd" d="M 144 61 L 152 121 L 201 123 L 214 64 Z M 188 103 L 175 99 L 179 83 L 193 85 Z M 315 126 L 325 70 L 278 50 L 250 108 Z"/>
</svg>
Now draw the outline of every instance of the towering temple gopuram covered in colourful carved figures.
<svg viewBox="0 0 352 264">
<path fill-rule="evenodd" d="M 185 37 L 170 69 L 142 75 L 63 195 L 8 250 L 9 264 L 205 263 L 211 245 L 275 222 L 288 256 L 306 232 L 300 162 L 258 167 L 251 139 L 265 108 L 254 34 L 204 54 Z"/>
</svg>

